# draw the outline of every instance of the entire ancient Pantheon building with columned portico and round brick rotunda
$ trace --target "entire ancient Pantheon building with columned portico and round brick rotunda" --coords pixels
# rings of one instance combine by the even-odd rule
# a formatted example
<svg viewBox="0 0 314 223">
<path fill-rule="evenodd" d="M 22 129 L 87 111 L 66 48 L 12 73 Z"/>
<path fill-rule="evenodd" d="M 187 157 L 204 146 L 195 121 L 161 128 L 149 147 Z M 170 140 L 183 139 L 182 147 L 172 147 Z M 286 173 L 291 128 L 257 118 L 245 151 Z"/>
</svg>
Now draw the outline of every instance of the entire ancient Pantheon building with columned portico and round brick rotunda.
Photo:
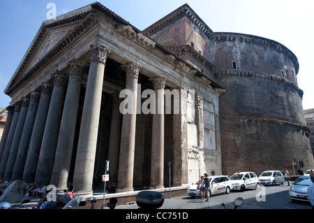
<svg viewBox="0 0 314 223">
<path fill-rule="evenodd" d="M 43 22 L 8 82 L 0 179 L 87 195 L 106 160 L 118 192 L 313 167 L 298 70 L 281 43 L 216 33 L 187 4 L 140 31 L 91 3 Z"/>
</svg>

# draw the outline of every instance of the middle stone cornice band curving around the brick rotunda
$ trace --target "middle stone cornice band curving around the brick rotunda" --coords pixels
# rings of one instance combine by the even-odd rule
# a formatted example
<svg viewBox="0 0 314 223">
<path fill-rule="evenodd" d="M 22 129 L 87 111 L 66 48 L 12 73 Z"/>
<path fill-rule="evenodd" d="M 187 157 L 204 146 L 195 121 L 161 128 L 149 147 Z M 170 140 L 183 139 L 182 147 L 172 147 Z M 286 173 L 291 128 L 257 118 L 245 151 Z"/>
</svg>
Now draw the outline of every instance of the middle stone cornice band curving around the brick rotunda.
<svg viewBox="0 0 314 223">
<path fill-rule="evenodd" d="M 274 81 L 278 81 L 278 82 L 282 82 L 285 85 L 288 85 L 290 87 L 292 87 L 292 89 L 295 89 L 301 99 L 303 98 L 303 90 L 299 89 L 299 87 L 297 87 L 297 85 L 295 85 L 294 83 L 285 80 L 285 78 L 280 78 L 278 76 L 275 75 L 268 75 L 268 74 L 262 74 L 262 73 L 255 73 L 255 72 L 249 72 L 249 71 L 215 71 L 215 75 L 217 77 L 221 77 L 223 75 L 235 75 L 235 76 L 239 76 L 239 77 L 244 77 L 244 78 L 264 78 L 267 80 L 274 80 Z"/>
</svg>

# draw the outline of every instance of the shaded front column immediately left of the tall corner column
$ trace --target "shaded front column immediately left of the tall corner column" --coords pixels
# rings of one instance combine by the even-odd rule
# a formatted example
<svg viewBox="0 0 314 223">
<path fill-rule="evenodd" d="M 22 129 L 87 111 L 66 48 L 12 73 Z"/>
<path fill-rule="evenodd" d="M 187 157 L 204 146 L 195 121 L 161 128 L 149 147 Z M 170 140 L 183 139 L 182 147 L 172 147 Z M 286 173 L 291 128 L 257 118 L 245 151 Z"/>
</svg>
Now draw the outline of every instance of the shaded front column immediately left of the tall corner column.
<svg viewBox="0 0 314 223">
<path fill-rule="evenodd" d="M 54 168 L 50 180 L 50 184 L 55 185 L 57 189 L 66 189 L 67 187 L 84 69 L 84 64 L 76 60 L 70 62 L 69 65 L 68 89 L 66 91 L 66 100 L 64 101 Z"/>
</svg>

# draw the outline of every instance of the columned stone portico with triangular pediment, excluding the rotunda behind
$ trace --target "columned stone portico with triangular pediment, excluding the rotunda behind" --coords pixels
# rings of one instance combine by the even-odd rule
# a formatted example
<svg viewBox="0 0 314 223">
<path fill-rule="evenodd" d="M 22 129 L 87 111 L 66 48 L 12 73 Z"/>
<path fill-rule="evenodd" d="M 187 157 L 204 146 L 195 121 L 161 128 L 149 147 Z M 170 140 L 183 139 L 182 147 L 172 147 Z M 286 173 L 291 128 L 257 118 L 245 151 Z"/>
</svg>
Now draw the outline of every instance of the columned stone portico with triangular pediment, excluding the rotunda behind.
<svg viewBox="0 0 314 223">
<path fill-rule="evenodd" d="M 12 101 L 0 178 L 57 189 L 73 182 L 76 194 L 90 195 L 106 159 L 118 192 L 221 174 L 224 90 L 212 70 L 186 62 L 100 3 L 43 22 L 5 90 Z M 133 113 L 121 113 L 123 89 L 133 92 Z M 169 99 L 157 93 L 179 92 L 171 112 L 143 113 L 146 89 L 156 92 L 158 111 Z"/>
</svg>

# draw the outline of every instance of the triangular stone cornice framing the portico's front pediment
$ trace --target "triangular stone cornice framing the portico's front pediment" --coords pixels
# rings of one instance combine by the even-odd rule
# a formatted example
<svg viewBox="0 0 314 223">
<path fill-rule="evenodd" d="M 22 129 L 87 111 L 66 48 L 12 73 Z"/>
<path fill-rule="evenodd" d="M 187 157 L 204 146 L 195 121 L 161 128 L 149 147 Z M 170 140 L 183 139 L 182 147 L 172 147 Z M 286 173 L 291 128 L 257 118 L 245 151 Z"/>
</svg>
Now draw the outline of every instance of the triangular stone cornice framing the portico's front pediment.
<svg viewBox="0 0 314 223">
<path fill-rule="evenodd" d="M 65 26 L 66 24 L 70 24 L 73 22 L 77 22 L 82 20 L 79 24 L 75 26 L 57 45 L 50 50 L 42 59 L 40 59 L 37 64 L 35 64 L 27 73 L 24 73 L 31 62 L 31 59 L 36 54 L 38 50 L 40 50 L 40 43 L 43 41 L 48 31 L 54 27 Z M 55 58 L 57 58 L 61 53 L 68 48 L 69 45 L 75 43 L 81 36 L 87 33 L 91 27 L 98 22 L 96 19 L 96 15 L 92 13 L 92 11 L 87 11 L 84 13 L 80 13 L 79 15 L 73 15 L 72 17 L 67 17 L 63 20 L 59 20 L 56 22 L 48 23 L 41 27 L 39 34 L 37 35 L 36 40 L 33 41 L 33 45 L 31 46 L 29 52 L 26 57 L 24 57 L 21 62 L 19 68 L 15 72 L 15 75 L 10 80 L 10 83 L 6 87 L 5 93 L 10 95 L 12 94 L 18 86 L 22 85 L 23 82 L 28 80 L 29 78 L 36 75 L 38 71 L 44 69 L 47 64 L 52 62 Z M 43 23 L 44 24 L 44 23 Z"/>
</svg>

